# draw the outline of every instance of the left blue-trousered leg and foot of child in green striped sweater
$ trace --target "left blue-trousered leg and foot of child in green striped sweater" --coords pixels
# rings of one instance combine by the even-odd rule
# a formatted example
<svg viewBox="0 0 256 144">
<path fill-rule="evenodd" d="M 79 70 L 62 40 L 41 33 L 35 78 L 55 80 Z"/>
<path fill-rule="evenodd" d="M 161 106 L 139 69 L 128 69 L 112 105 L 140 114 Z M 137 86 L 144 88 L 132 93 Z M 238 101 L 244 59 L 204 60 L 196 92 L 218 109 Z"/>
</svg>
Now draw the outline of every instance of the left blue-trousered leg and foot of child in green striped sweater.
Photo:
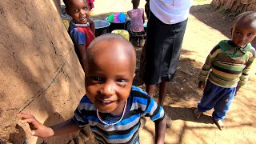
<svg viewBox="0 0 256 144">
<path fill-rule="evenodd" d="M 198 103 L 198 109 L 194 110 L 194 117 L 200 118 L 200 115 L 207 110 L 212 109 L 219 100 L 221 87 L 214 85 L 210 81 L 206 82 L 206 87 L 203 90 L 201 102 Z"/>
</svg>

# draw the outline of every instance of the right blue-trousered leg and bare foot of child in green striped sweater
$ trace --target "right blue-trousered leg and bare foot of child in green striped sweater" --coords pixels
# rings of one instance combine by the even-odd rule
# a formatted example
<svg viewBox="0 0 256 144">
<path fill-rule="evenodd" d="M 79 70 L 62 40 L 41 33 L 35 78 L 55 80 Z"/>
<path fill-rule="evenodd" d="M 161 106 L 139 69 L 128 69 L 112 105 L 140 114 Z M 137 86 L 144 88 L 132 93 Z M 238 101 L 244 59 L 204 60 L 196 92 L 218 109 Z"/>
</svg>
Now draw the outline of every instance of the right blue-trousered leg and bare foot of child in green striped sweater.
<svg viewBox="0 0 256 144">
<path fill-rule="evenodd" d="M 222 119 L 226 117 L 227 111 L 230 109 L 232 100 L 234 99 L 234 94 L 236 91 L 236 88 L 223 88 L 222 96 L 219 99 L 219 101 L 214 106 L 214 113 L 213 118 L 214 122 L 218 126 L 220 130 L 224 128 L 224 124 L 222 122 Z"/>
</svg>

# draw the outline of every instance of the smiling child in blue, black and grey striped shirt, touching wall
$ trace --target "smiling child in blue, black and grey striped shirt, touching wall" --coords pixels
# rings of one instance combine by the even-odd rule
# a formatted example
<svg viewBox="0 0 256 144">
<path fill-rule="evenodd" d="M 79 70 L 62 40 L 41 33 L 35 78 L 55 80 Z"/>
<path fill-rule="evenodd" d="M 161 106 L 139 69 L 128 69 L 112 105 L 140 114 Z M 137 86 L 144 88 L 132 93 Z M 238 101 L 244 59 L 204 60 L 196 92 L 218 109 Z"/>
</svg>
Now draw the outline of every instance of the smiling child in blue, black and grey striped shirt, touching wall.
<svg viewBox="0 0 256 144">
<path fill-rule="evenodd" d="M 155 143 L 163 144 L 165 113 L 146 92 L 132 86 L 136 68 L 134 46 L 118 34 L 103 34 L 90 43 L 85 62 L 86 95 L 73 118 L 44 126 L 31 114 L 18 114 L 30 123 L 31 134 L 48 138 L 70 134 L 89 125 L 98 143 L 139 143 L 142 116 L 155 124 Z"/>
</svg>

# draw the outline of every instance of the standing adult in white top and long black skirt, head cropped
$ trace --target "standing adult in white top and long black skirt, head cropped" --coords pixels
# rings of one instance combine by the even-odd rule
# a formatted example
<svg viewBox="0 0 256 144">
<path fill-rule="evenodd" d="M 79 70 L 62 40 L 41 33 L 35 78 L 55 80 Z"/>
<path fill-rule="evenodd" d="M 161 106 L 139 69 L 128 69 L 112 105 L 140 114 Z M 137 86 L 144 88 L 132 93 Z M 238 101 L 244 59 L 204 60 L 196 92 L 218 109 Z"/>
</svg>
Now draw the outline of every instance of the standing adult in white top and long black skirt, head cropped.
<svg viewBox="0 0 256 144">
<path fill-rule="evenodd" d="M 163 106 L 169 82 L 177 70 L 187 18 L 193 0 L 150 0 L 145 44 L 146 65 L 142 79 L 153 97 L 160 84 L 159 105 Z"/>
</svg>

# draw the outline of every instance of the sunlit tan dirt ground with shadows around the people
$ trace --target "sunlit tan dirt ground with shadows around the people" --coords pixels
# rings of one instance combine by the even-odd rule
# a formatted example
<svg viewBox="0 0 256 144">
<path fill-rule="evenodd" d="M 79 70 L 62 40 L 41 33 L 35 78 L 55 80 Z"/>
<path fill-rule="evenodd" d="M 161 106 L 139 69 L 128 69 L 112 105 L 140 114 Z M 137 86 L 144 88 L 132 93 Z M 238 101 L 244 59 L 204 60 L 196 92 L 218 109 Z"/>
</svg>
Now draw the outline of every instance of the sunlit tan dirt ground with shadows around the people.
<svg viewBox="0 0 256 144">
<path fill-rule="evenodd" d="M 144 7 L 142 1 L 140 7 Z M 96 0 L 92 11 L 93 18 L 104 19 L 112 12 L 126 12 L 132 8 L 130 1 Z M 177 75 L 170 83 L 164 109 L 172 118 L 172 127 L 166 130 L 166 143 L 255 143 L 256 142 L 256 82 L 254 65 L 250 81 L 242 88 L 230 108 L 225 130 L 218 130 L 211 119 L 211 112 L 206 112 L 196 119 L 192 111 L 197 106 L 202 90 L 198 90 L 196 78 L 210 50 L 222 39 L 230 38 L 230 26 L 235 14 L 214 9 L 210 1 L 194 2 L 186 26 L 182 45 L 182 54 Z M 255 45 L 255 41 L 253 42 Z M 139 55 L 142 47 L 136 47 Z M 145 86 L 135 79 L 134 85 Z M 157 99 L 158 90 L 154 98 Z M 154 123 L 148 120 L 140 130 L 141 143 L 154 143 Z"/>
</svg>

